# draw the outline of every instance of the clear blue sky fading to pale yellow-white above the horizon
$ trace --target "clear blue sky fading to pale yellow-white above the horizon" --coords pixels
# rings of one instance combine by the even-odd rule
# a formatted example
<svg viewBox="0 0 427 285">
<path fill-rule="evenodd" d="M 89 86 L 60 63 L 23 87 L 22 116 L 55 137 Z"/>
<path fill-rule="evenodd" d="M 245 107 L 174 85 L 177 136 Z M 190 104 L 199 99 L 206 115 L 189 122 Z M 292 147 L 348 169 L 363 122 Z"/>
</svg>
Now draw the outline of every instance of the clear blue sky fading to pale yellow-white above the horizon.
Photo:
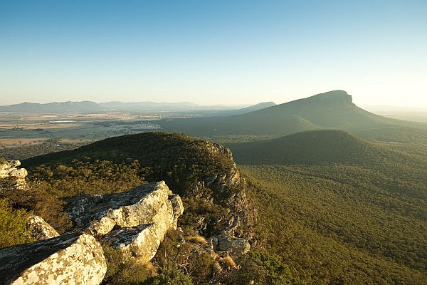
<svg viewBox="0 0 427 285">
<path fill-rule="evenodd" d="M 427 106 L 427 1 L 0 0 L 0 105 Z"/>
</svg>

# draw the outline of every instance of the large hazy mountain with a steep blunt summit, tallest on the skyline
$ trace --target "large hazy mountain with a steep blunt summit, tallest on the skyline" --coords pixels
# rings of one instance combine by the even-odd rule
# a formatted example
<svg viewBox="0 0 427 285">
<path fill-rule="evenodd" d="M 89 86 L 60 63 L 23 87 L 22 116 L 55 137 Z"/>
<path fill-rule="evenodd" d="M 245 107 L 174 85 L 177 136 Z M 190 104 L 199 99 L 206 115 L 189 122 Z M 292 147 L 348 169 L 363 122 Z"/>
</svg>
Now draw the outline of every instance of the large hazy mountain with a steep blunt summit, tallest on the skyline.
<svg viewBox="0 0 427 285">
<path fill-rule="evenodd" d="M 419 126 L 369 113 L 354 105 L 352 96 L 343 90 L 321 93 L 241 115 L 169 120 L 159 124 L 166 130 L 201 136 L 289 135 L 316 129 L 353 131 L 391 125 Z"/>
</svg>

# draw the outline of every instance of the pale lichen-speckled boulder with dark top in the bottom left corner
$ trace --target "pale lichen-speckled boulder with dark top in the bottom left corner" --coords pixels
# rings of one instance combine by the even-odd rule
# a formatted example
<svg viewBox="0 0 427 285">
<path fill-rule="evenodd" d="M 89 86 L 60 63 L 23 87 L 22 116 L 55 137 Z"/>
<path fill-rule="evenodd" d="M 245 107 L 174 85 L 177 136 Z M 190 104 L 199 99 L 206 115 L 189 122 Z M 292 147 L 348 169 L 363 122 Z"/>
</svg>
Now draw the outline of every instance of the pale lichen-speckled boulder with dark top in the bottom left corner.
<svg viewBox="0 0 427 285">
<path fill-rule="evenodd" d="M 107 271 L 90 234 L 63 234 L 0 250 L 0 284 L 100 284 Z"/>
</svg>

